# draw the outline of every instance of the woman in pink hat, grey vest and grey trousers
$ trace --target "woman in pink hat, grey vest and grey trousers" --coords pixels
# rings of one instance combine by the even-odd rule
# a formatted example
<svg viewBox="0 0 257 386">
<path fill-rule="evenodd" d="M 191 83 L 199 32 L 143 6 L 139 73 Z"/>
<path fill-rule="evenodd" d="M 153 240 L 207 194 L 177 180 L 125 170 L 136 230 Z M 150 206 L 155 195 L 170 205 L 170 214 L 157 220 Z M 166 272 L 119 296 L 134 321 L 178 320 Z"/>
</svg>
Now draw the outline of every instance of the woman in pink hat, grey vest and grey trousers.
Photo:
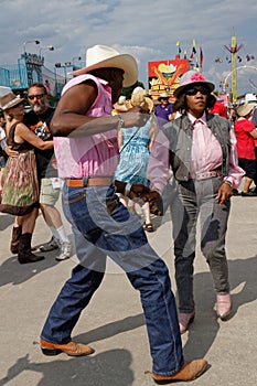
<svg viewBox="0 0 257 386">
<path fill-rule="evenodd" d="M 232 310 L 225 239 L 229 199 L 244 171 L 237 164 L 235 136 L 228 120 L 208 112 L 215 101 L 213 89 L 214 84 L 196 71 L 182 75 L 174 90 L 174 109 L 181 116 L 159 132 L 149 160 L 148 172 L 153 175 L 150 189 L 163 190 L 162 180 L 169 178 L 171 168 L 178 193 L 171 203 L 171 215 L 181 333 L 195 317 L 193 265 L 199 218 L 201 250 L 216 293 L 216 315 L 226 320 Z M 146 200 L 154 202 L 157 193 L 147 193 Z"/>
</svg>

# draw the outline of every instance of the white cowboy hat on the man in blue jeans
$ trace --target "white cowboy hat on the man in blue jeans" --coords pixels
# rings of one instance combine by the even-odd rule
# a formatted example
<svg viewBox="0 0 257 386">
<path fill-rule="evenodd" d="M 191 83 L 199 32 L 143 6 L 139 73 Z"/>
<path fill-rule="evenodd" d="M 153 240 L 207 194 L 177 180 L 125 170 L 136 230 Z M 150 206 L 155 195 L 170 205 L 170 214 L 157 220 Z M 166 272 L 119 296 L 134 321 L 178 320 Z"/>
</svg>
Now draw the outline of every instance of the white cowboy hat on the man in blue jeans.
<svg viewBox="0 0 257 386">
<path fill-rule="evenodd" d="M 73 75 L 83 75 L 92 69 L 115 67 L 124 69 L 124 86 L 133 85 L 138 79 L 138 65 L 133 56 L 120 54 L 107 45 L 94 45 L 86 52 L 86 67 L 74 71 Z"/>
</svg>

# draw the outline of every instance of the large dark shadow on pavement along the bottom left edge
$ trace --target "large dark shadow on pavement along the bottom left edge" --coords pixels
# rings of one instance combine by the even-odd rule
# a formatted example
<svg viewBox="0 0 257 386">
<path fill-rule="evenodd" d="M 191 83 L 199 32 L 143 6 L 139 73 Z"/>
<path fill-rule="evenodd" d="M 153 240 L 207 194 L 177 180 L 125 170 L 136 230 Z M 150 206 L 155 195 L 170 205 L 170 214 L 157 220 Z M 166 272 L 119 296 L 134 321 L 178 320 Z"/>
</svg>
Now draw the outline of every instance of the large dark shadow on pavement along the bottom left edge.
<svg viewBox="0 0 257 386">
<path fill-rule="evenodd" d="M 0 386 L 9 384 L 22 372 L 42 374 L 38 386 L 130 386 L 133 382 L 131 361 L 127 350 L 110 350 L 76 358 L 61 354 L 58 360 L 51 357 L 51 362 L 45 363 L 30 362 L 26 354 L 8 369 L 7 376 L 0 379 Z"/>
</svg>

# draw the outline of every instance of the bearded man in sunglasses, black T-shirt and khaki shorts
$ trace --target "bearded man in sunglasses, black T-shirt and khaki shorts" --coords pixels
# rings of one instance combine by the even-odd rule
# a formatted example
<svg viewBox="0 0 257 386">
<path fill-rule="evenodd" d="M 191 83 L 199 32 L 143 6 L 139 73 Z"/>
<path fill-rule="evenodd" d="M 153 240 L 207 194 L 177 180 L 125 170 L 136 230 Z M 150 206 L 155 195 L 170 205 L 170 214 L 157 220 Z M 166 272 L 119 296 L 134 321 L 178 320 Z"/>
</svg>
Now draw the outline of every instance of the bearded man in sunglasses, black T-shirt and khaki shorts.
<svg viewBox="0 0 257 386">
<path fill-rule="evenodd" d="M 50 121 L 54 109 L 46 105 L 47 92 L 43 84 L 34 83 L 28 90 L 28 99 L 32 110 L 24 116 L 24 124 L 43 141 L 52 140 Z M 71 255 L 71 243 L 66 236 L 61 214 L 55 207 L 60 196 L 61 181 L 57 176 L 57 164 L 54 149 L 35 149 L 38 174 L 40 182 L 40 207 L 53 237 L 40 247 L 43 251 L 61 248 L 57 260 L 67 259 Z"/>
</svg>

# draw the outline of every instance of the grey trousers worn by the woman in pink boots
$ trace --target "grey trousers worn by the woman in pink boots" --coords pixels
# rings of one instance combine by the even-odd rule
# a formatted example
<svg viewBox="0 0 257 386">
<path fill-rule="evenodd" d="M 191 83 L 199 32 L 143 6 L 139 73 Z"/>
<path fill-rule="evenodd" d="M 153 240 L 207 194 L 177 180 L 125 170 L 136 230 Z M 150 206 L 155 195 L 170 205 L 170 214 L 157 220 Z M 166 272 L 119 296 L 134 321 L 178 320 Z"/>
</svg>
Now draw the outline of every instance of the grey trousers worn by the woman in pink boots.
<svg viewBox="0 0 257 386">
<path fill-rule="evenodd" d="M 171 204 L 180 312 L 194 310 L 193 264 L 199 218 L 201 250 L 210 266 L 214 289 L 219 294 L 229 292 L 225 238 L 231 201 L 219 205 L 215 200 L 221 184 L 219 178 L 182 182 Z"/>
</svg>

